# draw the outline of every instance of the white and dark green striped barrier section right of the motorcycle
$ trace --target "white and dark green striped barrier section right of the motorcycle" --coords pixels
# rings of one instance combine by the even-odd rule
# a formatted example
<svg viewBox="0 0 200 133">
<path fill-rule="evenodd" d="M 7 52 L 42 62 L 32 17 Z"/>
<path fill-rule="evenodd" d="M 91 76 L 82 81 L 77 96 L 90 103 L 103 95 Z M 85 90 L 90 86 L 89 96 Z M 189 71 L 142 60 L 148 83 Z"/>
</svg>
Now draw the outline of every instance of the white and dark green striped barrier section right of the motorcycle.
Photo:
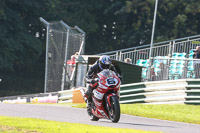
<svg viewBox="0 0 200 133">
<path fill-rule="evenodd" d="M 180 79 L 121 85 L 120 103 L 200 104 L 200 79 Z"/>
</svg>

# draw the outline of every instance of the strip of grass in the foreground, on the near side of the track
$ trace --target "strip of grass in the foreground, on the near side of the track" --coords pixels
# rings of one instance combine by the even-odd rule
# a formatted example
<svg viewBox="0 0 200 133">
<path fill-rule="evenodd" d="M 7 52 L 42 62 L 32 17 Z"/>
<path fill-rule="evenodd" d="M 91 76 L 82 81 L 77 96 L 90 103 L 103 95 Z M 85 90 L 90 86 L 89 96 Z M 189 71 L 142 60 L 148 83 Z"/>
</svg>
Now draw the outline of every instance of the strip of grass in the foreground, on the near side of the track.
<svg viewBox="0 0 200 133">
<path fill-rule="evenodd" d="M 155 133 L 32 118 L 0 116 L 1 133 Z"/>
</svg>

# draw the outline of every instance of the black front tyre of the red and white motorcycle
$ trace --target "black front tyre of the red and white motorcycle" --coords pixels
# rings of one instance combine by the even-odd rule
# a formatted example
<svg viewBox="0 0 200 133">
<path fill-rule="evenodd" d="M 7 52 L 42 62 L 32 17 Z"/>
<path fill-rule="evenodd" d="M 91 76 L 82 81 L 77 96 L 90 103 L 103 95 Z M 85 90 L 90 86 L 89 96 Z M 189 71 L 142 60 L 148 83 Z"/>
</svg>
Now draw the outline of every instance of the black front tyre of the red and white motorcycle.
<svg viewBox="0 0 200 133">
<path fill-rule="evenodd" d="M 109 117 L 112 122 L 117 123 L 120 119 L 120 105 L 117 96 L 110 97 Z"/>
</svg>

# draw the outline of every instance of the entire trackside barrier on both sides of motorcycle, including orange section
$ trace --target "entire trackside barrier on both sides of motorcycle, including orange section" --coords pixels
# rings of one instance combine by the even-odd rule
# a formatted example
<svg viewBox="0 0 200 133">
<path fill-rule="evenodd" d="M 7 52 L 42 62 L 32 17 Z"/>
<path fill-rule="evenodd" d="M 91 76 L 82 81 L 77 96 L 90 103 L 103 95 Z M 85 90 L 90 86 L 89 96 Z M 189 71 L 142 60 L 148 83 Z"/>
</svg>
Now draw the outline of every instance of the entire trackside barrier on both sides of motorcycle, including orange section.
<svg viewBox="0 0 200 133">
<path fill-rule="evenodd" d="M 52 101 L 52 99 L 54 100 Z M 84 103 L 84 100 L 80 88 L 73 88 L 54 93 L 1 97 L 0 102 Z M 200 104 L 200 79 L 179 79 L 121 85 L 120 103 Z"/>
</svg>

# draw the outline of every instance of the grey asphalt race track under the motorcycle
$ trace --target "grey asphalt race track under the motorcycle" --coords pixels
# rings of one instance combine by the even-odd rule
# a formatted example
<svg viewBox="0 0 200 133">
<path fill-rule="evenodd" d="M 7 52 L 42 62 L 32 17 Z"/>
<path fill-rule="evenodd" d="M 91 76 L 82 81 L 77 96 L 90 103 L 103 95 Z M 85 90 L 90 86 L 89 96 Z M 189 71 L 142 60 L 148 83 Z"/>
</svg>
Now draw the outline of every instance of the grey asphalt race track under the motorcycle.
<svg viewBox="0 0 200 133">
<path fill-rule="evenodd" d="M 90 121 L 85 109 L 58 105 L 3 104 L 0 103 L 0 116 L 39 118 L 61 122 L 82 123 L 88 125 L 162 131 L 166 133 L 200 133 L 200 125 L 183 122 L 150 119 L 130 115 L 121 115 L 118 123 L 101 119 Z"/>
</svg>

